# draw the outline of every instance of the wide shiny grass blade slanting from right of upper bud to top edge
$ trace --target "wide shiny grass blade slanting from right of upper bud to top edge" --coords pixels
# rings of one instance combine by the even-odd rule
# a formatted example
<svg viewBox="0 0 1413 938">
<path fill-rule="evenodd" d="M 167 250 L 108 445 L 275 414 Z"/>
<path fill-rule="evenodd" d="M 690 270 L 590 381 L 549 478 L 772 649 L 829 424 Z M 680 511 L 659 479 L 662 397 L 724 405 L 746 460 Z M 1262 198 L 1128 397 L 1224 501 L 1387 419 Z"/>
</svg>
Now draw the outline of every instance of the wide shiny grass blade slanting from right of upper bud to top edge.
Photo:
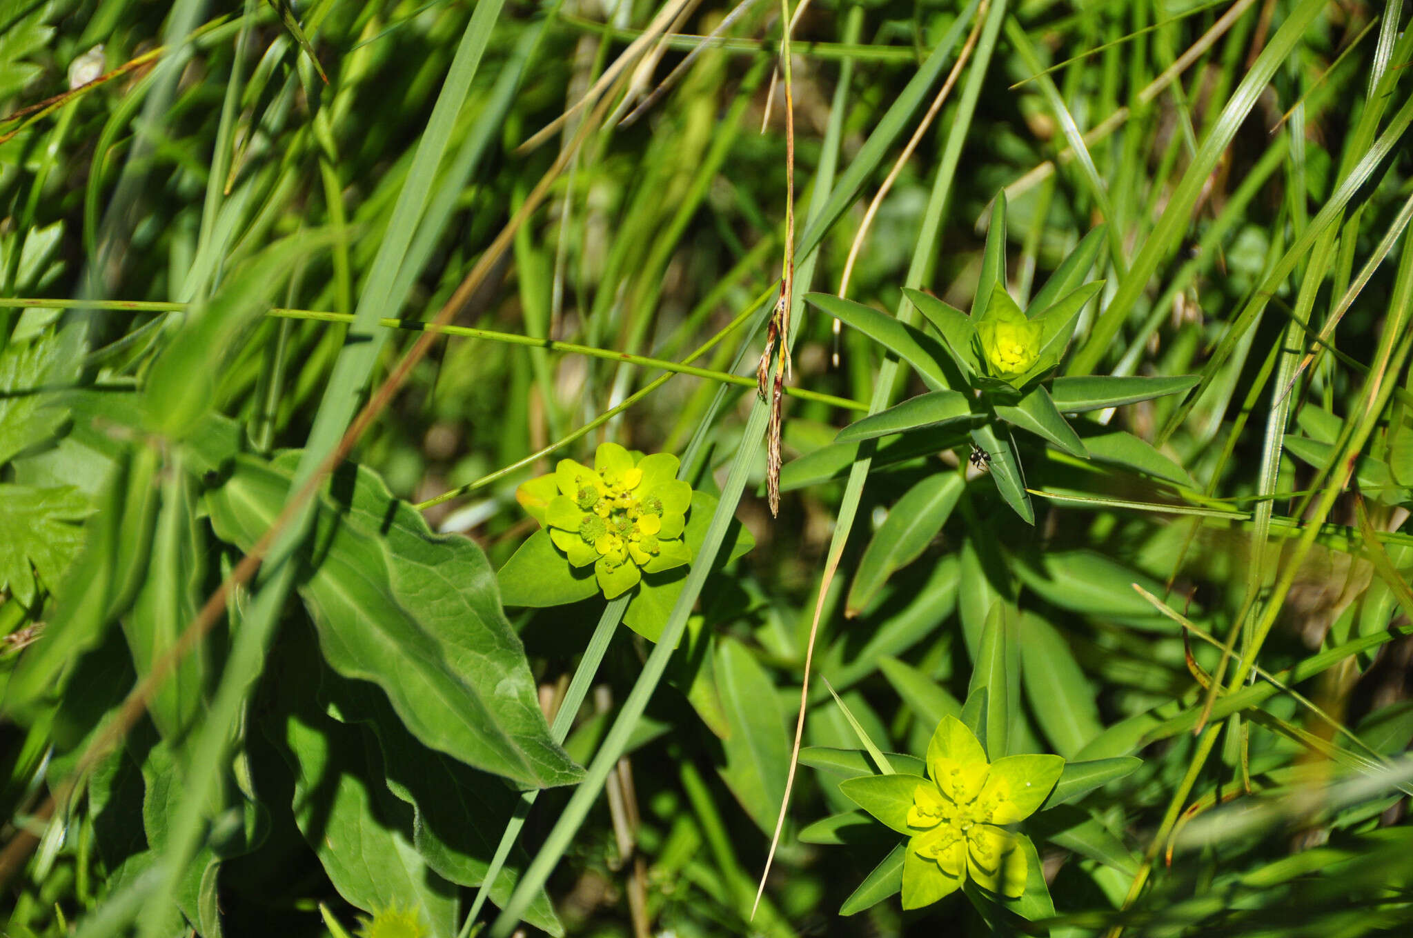
<svg viewBox="0 0 1413 938">
<path fill-rule="evenodd" d="M 1119 328 L 1128 319 L 1133 304 L 1153 280 L 1159 263 L 1167 257 L 1177 244 L 1177 240 L 1188 229 L 1193 206 L 1197 203 L 1202 186 L 1207 185 L 1217 161 L 1225 153 L 1228 144 L 1231 144 L 1232 137 L 1236 136 L 1238 127 L 1245 123 L 1246 116 L 1255 107 L 1272 75 L 1276 73 L 1276 69 L 1286 57 L 1294 51 L 1306 28 L 1314 23 L 1324 7 L 1323 0 L 1301 0 L 1290 11 L 1286 21 L 1282 23 L 1262 54 L 1256 57 L 1246 76 L 1236 86 L 1231 100 L 1226 102 L 1221 116 L 1218 116 L 1212 130 L 1202 141 L 1187 172 L 1183 174 L 1181 182 L 1178 182 L 1173 198 L 1153 227 L 1153 233 L 1143 243 L 1143 249 L 1137 257 L 1133 259 L 1133 266 L 1129 268 L 1128 275 L 1119 281 L 1119 288 L 1109 301 L 1109 305 L 1099 314 L 1089 336 L 1071 360 L 1070 367 L 1065 370 L 1067 374 L 1092 374 L 1099 366 Z"/>
</svg>

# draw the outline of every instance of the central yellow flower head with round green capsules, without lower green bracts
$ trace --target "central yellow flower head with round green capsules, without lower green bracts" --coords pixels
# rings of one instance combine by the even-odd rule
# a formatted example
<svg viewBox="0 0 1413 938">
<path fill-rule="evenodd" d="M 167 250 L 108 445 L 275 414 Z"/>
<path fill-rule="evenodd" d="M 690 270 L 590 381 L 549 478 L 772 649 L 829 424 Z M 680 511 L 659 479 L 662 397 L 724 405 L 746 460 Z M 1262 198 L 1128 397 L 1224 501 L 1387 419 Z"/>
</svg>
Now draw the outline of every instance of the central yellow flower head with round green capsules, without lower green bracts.
<svg viewBox="0 0 1413 938">
<path fill-rule="evenodd" d="M 589 469 L 561 459 L 554 473 L 526 482 L 516 499 L 550 533 L 571 566 L 593 565 L 608 599 L 692 559 L 682 540 L 692 489 L 677 479 L 677 456 L 634 461 L 623 446 L 602 444 Z"/>
</svg>

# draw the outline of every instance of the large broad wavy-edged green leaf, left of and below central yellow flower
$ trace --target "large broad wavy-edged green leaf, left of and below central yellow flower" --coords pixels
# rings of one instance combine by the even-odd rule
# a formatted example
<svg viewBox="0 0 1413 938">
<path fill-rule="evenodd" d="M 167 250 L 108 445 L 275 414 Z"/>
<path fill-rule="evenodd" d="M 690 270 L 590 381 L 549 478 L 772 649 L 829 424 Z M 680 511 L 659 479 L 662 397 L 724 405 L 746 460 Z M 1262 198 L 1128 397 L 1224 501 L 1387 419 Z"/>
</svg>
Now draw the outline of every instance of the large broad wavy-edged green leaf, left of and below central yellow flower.
<svg viewBox="0 0 1413 938">
<path fill-rule="evenodd" d="M 297 459 L 237 459 L 208 494 L 216 531 L 249 550 L 278 516 Z M 577 781 L 480 548 L 432 534 L 367 469 L 341 472 L 332 490 L 350 501 L 321 500 L 300 592 L 333 670 L 382 687 L 408 730 L 468 766 L 534 787 Z"/>
</svg>

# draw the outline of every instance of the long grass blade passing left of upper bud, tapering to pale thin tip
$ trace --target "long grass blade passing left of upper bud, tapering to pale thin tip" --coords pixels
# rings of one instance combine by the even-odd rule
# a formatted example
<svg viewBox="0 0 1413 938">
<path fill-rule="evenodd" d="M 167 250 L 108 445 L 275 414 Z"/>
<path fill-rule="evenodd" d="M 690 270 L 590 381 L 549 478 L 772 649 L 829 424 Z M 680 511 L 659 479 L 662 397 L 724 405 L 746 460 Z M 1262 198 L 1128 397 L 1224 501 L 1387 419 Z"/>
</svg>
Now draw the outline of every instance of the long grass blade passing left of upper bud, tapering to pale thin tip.
<svg viewBox="0 0 1413 938">
<path fill-rule="evenodd" d="M 937 177 L 933 179 L 933 189 L 927 201 L 927 208 L 923 215 L 923 226 L 918 232 L 917 244 L 913 250 L 913 260 L 909 266 L 906 287 L 917 288 L 928 278 L 933 266 L 937 259 L 937 239 L 941 232 L 942 219 L 945 216 L 947 199 L 951 194 L 952 178 L 957 172 L 957 164 L 961 160 L 962 143 L 966 138 L 966 131 L 971 127 L 972 114 L 976 112 L 976 100 L 981 96 L 981 85 L 986 78 L 986 71 L 991 65 L 992 52 L 996 49 L 996 37 L 1000 32 L 1000 23 L 1006 13 L 1006 0 L 996 0 L 986 16 L 986 24 L 982 31 L 981 42 L 978 42 L 971 71 L 966 75 L 966 85 L 962 89 L 961 99 L 958 100 L 957 114 L 954 117 L 952 126 L 950 129 L 947 144 L 942 151 L 942 161 L 938 165 Z M 979 14 L 978 14 L 979 16 Z M 961 20 L 958 20 L 961 23 Z M 958 35 L 961 31 L 958 30 Z M 862 158 L 862 153 L 861 153 Z M 848 174 L 845 174 L 848 178 Z M 841 181 L 841 186 L 844 181 Z M 828 206 L 825 206 L 828 209 Z M 899 319 L 906 325 L 916 325 L 918 319 L 918 312 L 910 301 L 904 301 L 899 308 Z M 885 357 L 883 364 L 879 367 L 877 379 L 873 384 L 873 400 L 869 403 L 869 412 L 876 414 L 889 405 L 893 394 L 894 379 L 900 363 L 897 359 Z M 834 537 L 829 541 L 829 551 L 825 558 L 824 575 L 820 579 L 820 592 L 815 599 L 814 619 L 810 624 L 810 637 L 805 646 L 805 660 L 804 660 L 804 675 L 801 681 L 800 691 L 800 715 L 796 720 L 796 739 L 794 749 L 790 756 L 790 774 L 786 780 L 786 798 L 780 808 L 780 821 L 776 824 L 776 835 L 770 843 L 770 852 L 766 856 L 766 866 L 760 874 L 760 886 L 756 890 L 756 901 L 760 901 L 760 894 L 766 889 L 766 879 L 770 874 L 770 863 L 774 859 L 776 846 L 780 841 L 780 831 L 784 826 L 786 812 L 790 809 L 790 792 L 794 787 L 794 774 L 798 764 L 800 753 L 800 739 L 804 732 L 804 713 L 805 701 L 808 701 L 808 687 L 810 687 L 810 665 L 814 658 L 814 643 L 820 631 L 820 617 L 824 613 L 824 603 L 829 595 L 829 585 L 834 581 L 835 571 L 839 566 L 839 558 L 844 555 L 844 544 L 849 537 L 849 528 L 853 526 L 853 518 L 859 510 L 859 500 L 863 494 L 863 482 L 868 479 L 869 466 L 873 461 L 875 444 L 872 441 L 865 442 L 859 446 L 858 459 L 853 462 L 853 468 L 849 470 L 849 480 L 845 485 L 844 499 L 839 503 L 839 513 L 835 518 Z"/>
</svg>

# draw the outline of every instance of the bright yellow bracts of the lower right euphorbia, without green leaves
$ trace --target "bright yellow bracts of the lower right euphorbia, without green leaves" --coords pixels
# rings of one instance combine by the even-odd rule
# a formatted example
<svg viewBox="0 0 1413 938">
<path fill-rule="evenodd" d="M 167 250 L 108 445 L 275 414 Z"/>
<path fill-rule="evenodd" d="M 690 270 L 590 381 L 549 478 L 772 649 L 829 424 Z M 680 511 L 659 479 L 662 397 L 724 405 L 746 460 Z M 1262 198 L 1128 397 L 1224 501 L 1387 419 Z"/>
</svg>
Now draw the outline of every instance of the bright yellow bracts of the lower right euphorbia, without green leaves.
<svg viewBox="0 0 1413 938">
<path fill-rule="evenodd" d="M 961 887 L 1015 898 L 1026 887 L 1026 855 L 1002 825 L 1034 814 L 1054 788 L 1058 756 L 1006 756 L 993 763 L 966 726 L 947 716 L 927 747 L 927 774 L 913 788 L 903 860 L 903 908 L 918 908 Z"/>
</svg>

